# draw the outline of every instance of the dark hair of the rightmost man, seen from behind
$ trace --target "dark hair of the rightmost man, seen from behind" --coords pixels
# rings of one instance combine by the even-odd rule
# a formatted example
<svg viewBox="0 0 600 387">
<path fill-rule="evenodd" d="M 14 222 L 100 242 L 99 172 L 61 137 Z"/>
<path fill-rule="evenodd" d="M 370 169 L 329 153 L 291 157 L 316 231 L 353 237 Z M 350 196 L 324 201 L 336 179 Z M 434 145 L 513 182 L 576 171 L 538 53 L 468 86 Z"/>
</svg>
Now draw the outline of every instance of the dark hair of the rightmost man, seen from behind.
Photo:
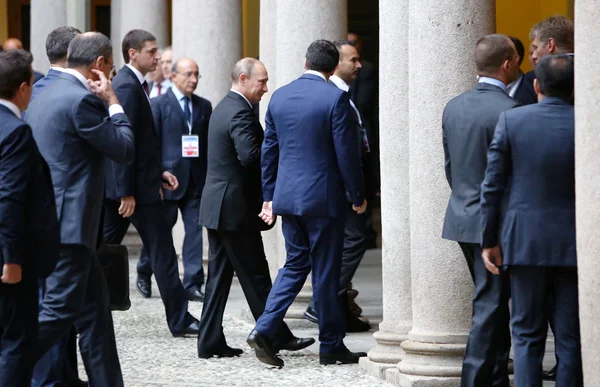
<svg viewBox="0 0 600 387">
<path fill-rule="evenodd" d="M 548 97 L 571 100 L 575 88 L 573 56 L 568 54 L 546 55 L 535 66 L 535 77 L 540 92 Z"/>
</svg>

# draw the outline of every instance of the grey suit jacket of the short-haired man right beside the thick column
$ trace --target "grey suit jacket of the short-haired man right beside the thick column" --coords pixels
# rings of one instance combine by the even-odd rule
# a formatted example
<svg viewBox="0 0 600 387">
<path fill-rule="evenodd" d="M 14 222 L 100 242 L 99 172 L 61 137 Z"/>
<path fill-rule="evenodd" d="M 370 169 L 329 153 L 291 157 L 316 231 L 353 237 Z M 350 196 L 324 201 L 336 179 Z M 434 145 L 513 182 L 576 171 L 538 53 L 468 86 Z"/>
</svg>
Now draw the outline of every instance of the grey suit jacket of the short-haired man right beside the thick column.
<svg viewBox="0 0 600 387">
<path fill-rule="evenodd" d="M 517 105 L 498 86 L 478 83 L 452 99 L 442 118 L 446 178 L 452 193 L 442 238 L 481 242 L 480 190 L 500 113 Z"/>
</svg>

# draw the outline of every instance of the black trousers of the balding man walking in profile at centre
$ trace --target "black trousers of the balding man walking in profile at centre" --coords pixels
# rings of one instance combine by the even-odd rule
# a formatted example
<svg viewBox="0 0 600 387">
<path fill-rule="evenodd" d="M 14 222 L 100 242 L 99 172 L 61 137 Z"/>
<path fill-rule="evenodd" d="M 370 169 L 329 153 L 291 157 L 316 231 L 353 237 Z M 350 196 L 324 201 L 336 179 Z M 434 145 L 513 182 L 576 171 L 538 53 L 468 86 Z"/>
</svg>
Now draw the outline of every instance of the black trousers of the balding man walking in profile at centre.
<svg viewBox="0 0 600 387">
<path fill-rule="evenodd" d="M 208 281 L 206 282 L 198 352 L 213 352 L 227 345 L 223 334 L 223 313 L 235 272 L 250 311 L 258 319 L 265 310 L 271 290 L 271 275 L 265 256 L 262 236 L 258 230 L 207 230 Z M 275 336 L 286 342 L 293 334 L 283 323 Z"/>
</svg>

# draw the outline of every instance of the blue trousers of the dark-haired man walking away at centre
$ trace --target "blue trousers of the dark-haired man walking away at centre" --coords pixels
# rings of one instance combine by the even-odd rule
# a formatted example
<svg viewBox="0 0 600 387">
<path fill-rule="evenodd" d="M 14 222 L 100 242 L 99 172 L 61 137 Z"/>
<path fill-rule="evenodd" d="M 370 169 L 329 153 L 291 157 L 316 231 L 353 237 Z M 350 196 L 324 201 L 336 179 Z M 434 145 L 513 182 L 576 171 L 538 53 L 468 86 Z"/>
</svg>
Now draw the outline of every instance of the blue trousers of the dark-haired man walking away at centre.
<svg viewBox="0 0 600 387">
<path fill-rule="evenodd" d="M 281 220 L 287 259 L 269 293 L 265 312 L 256 322 L 256 330 L 275 339 L 285 313 L 312 269 L 313 298 L 319 315 L 320 352 L 342 351 L 345 349 L 346 324 L 338 290 L 344 220 L 293 215 L 283 215 Z"/>
</svg>

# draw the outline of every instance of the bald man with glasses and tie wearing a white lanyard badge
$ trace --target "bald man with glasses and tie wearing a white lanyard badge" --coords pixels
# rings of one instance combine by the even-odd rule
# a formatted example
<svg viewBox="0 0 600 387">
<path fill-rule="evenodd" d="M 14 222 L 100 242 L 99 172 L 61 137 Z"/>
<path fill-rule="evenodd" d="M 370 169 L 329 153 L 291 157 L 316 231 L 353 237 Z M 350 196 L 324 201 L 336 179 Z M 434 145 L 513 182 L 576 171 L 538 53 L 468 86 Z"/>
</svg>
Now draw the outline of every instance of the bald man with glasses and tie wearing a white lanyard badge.
<svg viewBox="0 0 600 387">
<path fill-rule="evenodd" d="M 172 87 L 151 99 L 154 123 L 161 140 L 162 168 L 177 176 L 179 186 L 164 193 L 164 212 L 171 229 L 181 210 L 183 240 L 183 286 L 190 301 L 204 300 L 202 285 L 202 226 L 198 224 L 200 196 L 206 178 L 208 122 L 212 105 L 194 94 L 200 73 L 198 64 L 187 58 L 174 64 Z M 185 142 L 189 149 L 183 149 Z M 152 275 L 146 249 L 142 250 L 138 272 Z"/>
</svg>

